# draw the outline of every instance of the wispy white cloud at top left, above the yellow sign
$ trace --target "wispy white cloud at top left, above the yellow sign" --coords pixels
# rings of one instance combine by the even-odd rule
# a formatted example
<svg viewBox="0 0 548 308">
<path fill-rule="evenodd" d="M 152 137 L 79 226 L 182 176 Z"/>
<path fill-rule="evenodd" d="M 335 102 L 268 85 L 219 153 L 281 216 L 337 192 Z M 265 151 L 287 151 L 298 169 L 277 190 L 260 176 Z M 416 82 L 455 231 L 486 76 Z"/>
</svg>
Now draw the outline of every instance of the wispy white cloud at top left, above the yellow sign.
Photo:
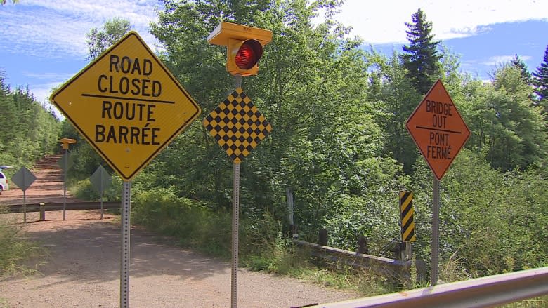
<svg viewBox="0 0 548 308">
<path fill-rule="evenodd" d="M 157 40 L 148 33 L 156 21 L 154 0 L 25 0 L 0 10 L 1 48 L 41 58 L 81 57 L 88 54 L 86 34 L 115 17 L 129 20 L 149 46 Z"/>
</svg>

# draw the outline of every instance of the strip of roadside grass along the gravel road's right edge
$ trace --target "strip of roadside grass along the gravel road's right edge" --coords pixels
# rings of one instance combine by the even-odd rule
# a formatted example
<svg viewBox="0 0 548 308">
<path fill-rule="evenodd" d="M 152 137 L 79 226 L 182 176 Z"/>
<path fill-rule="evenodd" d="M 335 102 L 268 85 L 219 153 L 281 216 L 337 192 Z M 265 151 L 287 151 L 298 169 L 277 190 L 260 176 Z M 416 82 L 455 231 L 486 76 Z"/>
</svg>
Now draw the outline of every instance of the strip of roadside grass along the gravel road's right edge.
<svg viewBox="0 0 548 308">
<path fill-rule="evenodd" d="M 207 204 L 178 198 L 168 190 L 152 190 L 137 194 L 132 219 L 157 234 L 178 239 L 181 246 L 223 259 L 230 258 L 231 220 L 228 211 L 212 210 Z M 377 276 L 365 269 L 320 262 L 310 255 L 310 251 L 294 246 L 282 231 L 280 222 L 268 213 L 241 218 L 240 265 L 243 267 L 350 290 L 358 297 L 402 290 L 401 281 Z M 453 257 L 441 266 L 440 278 L 444 281 L 465 280 L 470 276 L 473 275 Z M 427 282 L 422 285 L 412 283 L 409 288 L 425 286 L 428 286 Z M 545 298 L 531 299 L 508 307 L 543 307 L 545 302 Z"/>
</svg>

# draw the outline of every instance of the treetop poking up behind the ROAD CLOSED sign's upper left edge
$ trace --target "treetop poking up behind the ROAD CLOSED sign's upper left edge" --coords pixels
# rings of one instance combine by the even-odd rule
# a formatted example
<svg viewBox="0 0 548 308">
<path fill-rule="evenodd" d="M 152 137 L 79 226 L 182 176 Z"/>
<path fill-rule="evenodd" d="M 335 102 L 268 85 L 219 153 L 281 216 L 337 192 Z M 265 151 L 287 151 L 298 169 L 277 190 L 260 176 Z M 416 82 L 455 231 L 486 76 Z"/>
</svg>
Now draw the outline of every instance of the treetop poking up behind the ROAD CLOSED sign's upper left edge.
<svg viewBox="0 0 548 308">
<path fill-rule="evenodd" d="M 130 32 L 131 28 L 129 20 L 117 17 L 107 20 L 102 29 L 91 28 L 86 34 L 86 43 L 89 49 L 86 59 L 92 61 L 97 58 L 103 51 L 122 39 L 127 32 Z"/>
</svg>

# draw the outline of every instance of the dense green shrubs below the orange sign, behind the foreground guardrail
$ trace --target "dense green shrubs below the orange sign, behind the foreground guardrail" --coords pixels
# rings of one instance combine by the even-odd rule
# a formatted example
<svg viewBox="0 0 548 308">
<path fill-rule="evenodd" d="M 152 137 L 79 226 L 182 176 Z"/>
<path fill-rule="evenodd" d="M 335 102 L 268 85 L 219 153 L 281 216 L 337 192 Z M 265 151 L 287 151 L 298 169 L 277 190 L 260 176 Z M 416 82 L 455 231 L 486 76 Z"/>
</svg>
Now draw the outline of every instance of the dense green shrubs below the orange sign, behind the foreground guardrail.
<svg viewBox="0 0 548 308">
<path fill-rule="evenodd" d="M 431 174 L 421 166 L 413 189 L 416 247 L 429 260 Z M 441 260 L 454 260 L 468 277 L 544 266 L 547 193 L 537 186 L 544 181 L 533 169 L 500 173 L 484 157 L 462 150 L 441 182 Z"/>
</svg>

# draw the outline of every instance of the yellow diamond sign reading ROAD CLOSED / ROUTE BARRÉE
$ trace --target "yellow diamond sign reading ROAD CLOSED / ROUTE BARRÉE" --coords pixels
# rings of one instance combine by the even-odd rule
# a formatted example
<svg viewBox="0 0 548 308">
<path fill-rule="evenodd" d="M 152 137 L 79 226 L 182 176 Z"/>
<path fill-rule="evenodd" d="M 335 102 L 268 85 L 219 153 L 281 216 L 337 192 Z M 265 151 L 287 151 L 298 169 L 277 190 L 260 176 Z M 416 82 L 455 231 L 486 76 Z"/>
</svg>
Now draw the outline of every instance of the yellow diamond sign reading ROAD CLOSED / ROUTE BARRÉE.
<svg viewBox="0 0 548 308">
<path fill-rule="evenodd" d="M 200 114 L 136 32 L 126 34 L 50 100 L 124 180 L 131 180 Z"/>
</svg>

